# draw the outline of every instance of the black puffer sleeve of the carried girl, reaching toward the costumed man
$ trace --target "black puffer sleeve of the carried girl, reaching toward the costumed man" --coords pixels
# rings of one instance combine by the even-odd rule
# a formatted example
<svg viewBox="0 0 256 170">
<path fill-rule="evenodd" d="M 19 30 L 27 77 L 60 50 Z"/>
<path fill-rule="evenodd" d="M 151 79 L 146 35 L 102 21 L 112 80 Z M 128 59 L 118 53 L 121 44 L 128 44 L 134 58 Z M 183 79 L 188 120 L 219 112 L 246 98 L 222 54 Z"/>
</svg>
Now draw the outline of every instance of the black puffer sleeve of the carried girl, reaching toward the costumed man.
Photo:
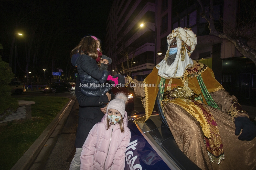
<svg viewBox="0 0 256 170">
<path fill-rule="evenodd" d="M 88 55 L 82 55 L 81 57 L 79 57 L 79 64 L 81 69 L 88 75 L 92 76 L 94 79 L 102 79 L 103 71 L 100 71 L 97 67 L 95 67 L 95 63 L 92 62 L 91 58 Z M 106 74 L 106 72 L 104 73 Z M 108 75 L 106 77 L 108 77 Z"/>
</svg>

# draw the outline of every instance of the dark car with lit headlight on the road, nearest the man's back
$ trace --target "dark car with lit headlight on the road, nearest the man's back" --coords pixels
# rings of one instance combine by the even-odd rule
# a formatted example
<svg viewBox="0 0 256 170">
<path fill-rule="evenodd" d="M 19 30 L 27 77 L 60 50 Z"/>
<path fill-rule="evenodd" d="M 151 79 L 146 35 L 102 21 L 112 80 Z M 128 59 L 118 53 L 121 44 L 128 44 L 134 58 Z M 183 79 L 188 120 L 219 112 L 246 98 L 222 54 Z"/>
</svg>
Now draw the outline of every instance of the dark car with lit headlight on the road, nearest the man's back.
<svg viewBox="0 0 256 170">
<path fill-rule="evenodd" d="M 51 92 L 56 93 L 57 91 L 71 91 L 72 86 L 69 82 L 55 82 L 49 85 L 40 87 L 40 91 L 43 93 Z"/>
</svg>

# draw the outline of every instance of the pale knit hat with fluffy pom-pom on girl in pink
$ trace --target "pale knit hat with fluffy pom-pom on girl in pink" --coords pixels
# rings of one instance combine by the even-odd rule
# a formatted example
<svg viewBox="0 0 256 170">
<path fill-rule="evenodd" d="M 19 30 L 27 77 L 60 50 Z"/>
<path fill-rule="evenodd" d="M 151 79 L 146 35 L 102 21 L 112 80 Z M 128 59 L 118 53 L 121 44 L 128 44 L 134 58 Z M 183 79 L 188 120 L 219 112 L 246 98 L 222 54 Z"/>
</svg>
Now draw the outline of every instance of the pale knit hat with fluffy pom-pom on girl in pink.
<svg viewBox="0 0 256 170">
<path fill-rule="evenodd" d="M 111 100 L 107 107 L 107 113 L 109 109 L 115 109 L 119 111 L 124 118 L 125 105 L 128 103 L 128 98 L 124 93 L 117 93 L 114 100 Z"/>
</svg>

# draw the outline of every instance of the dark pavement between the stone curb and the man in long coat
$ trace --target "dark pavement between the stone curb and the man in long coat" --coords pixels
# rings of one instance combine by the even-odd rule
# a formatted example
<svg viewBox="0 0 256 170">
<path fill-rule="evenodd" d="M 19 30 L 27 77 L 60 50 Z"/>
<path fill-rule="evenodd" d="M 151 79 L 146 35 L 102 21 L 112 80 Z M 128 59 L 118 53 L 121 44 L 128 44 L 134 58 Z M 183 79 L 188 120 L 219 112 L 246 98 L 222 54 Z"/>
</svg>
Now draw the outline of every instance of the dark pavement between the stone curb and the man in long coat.
<svg viewBox="0 0 256 170">
<path fill-rule="evenodd" d="M 30 170 L 34 169 L 69 169 L 74 156 L 74 142 L 78 125 L 78 101 L 62 117 L 58 126 L 49 137 L 44 147 L 33 162 Z"/>
</svg>

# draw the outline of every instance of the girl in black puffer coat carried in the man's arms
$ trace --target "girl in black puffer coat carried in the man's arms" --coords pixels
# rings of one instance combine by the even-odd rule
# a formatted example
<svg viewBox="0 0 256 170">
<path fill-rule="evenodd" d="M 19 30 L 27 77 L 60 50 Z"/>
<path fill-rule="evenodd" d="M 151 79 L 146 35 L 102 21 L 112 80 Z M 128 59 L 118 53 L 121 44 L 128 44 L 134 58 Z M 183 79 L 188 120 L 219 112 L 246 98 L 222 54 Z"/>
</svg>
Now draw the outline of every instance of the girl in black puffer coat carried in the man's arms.
<svg viewBox="0 0 256 170">
<path fill-rule="evenodd" d="M 111 86 L 104 83 L 109 72 L 99 70 L 102 53 L 98 38 L 83 37 L 78 46 L 71 51 L 71 56 L 72 65 L 77 67 L 81 93 L 88 97 L 99 97 L 108 93 Z"/>
</svg>

